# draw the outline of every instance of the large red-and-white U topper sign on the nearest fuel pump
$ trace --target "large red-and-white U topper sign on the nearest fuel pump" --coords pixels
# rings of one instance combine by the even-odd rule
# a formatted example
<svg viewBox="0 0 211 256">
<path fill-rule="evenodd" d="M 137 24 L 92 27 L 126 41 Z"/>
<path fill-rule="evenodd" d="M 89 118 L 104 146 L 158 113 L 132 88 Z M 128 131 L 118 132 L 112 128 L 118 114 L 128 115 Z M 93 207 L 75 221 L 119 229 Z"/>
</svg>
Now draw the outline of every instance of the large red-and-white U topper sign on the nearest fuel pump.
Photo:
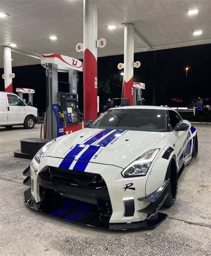
<svg viewBox="0 0 211 256">
<path fill-rule="evenodd" d="M 83 63 L 80 60 L 57 53 L 41 54 L 41 65 L 45 67 L 47 63 L 57 64 L 60 72 L 67 72 L 69 68 L 83 71 Z"/>
</svg>

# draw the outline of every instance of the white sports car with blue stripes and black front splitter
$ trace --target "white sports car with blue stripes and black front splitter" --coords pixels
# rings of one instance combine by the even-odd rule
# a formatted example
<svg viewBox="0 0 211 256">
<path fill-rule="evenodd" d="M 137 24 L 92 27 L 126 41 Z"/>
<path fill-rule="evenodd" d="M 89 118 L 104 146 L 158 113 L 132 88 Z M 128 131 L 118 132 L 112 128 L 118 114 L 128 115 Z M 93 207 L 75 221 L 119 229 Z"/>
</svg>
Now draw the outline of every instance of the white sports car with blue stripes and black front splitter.
<svg viewBox="0 0 211 256">
<path fill-rule="evenodd" d="M 111 230 L 156 227 L 198 154 L 197 131 L 166 107 L 109 109 L 89 127 L 45 144 L 24 171 L 31 209 Z"/>
</svg>

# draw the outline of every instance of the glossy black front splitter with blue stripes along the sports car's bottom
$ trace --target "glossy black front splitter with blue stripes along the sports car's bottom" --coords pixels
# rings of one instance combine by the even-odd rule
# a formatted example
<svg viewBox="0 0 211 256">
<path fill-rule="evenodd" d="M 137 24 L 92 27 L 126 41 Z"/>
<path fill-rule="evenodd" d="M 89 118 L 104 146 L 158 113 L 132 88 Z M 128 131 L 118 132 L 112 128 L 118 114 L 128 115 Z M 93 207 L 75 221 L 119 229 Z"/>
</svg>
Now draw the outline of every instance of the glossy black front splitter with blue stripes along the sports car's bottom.
<svg viewBox="0 0 211 256">
<path fill-rule="evenodd" d="M 97 228 L 105 231 L 137 231 L 154 229 L 166 217 L 166 214 L 158 213 L 151 218 L 140 222 L 112 223 L 101 220 L 97 206 L 78 200 L 73 200 L 57 195 L 48 201 L 36 203 L 31 195 L 31 188 L 24 192 L 24 202 L 28 208 L 37 213 L 45 214 L 49 217 L 61 221 Z"/>
</svg>

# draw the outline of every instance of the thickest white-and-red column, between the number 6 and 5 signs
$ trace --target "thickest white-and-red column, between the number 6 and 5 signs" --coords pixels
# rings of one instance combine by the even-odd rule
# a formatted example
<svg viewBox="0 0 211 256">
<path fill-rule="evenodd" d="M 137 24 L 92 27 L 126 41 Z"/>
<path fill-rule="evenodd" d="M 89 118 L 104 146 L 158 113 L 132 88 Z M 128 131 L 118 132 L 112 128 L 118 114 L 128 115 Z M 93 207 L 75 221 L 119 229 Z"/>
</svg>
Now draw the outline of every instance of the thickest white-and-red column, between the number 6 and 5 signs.
<svg viewBox="0 0 211 256">
<path fill-rule="evenodd" d="M 84 119 L 97 118 L 97 0 L 84 0 Z"/>
</svg>

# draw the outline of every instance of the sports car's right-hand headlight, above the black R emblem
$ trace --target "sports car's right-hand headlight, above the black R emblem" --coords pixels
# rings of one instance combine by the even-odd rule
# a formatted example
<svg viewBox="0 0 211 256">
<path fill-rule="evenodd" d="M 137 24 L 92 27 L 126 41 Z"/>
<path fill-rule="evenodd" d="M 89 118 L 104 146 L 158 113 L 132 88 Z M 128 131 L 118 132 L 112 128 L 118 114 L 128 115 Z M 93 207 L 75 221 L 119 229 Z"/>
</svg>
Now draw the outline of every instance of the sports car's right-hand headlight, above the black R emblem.
<svg viewBox="0 0 211 256">
<path fill-rule="evenodd" d="M 146 172 L 150 168 L 150 164 L 154 160 L 155 156 L 158 154 L 160 149 L 151 149 L 141 155 L 138 159 L 136 159 L 133 163 L 129 164 L 123 171 L 122 176 L 133 177 L 133 176 L 145 176 Z"/>
</svg>

